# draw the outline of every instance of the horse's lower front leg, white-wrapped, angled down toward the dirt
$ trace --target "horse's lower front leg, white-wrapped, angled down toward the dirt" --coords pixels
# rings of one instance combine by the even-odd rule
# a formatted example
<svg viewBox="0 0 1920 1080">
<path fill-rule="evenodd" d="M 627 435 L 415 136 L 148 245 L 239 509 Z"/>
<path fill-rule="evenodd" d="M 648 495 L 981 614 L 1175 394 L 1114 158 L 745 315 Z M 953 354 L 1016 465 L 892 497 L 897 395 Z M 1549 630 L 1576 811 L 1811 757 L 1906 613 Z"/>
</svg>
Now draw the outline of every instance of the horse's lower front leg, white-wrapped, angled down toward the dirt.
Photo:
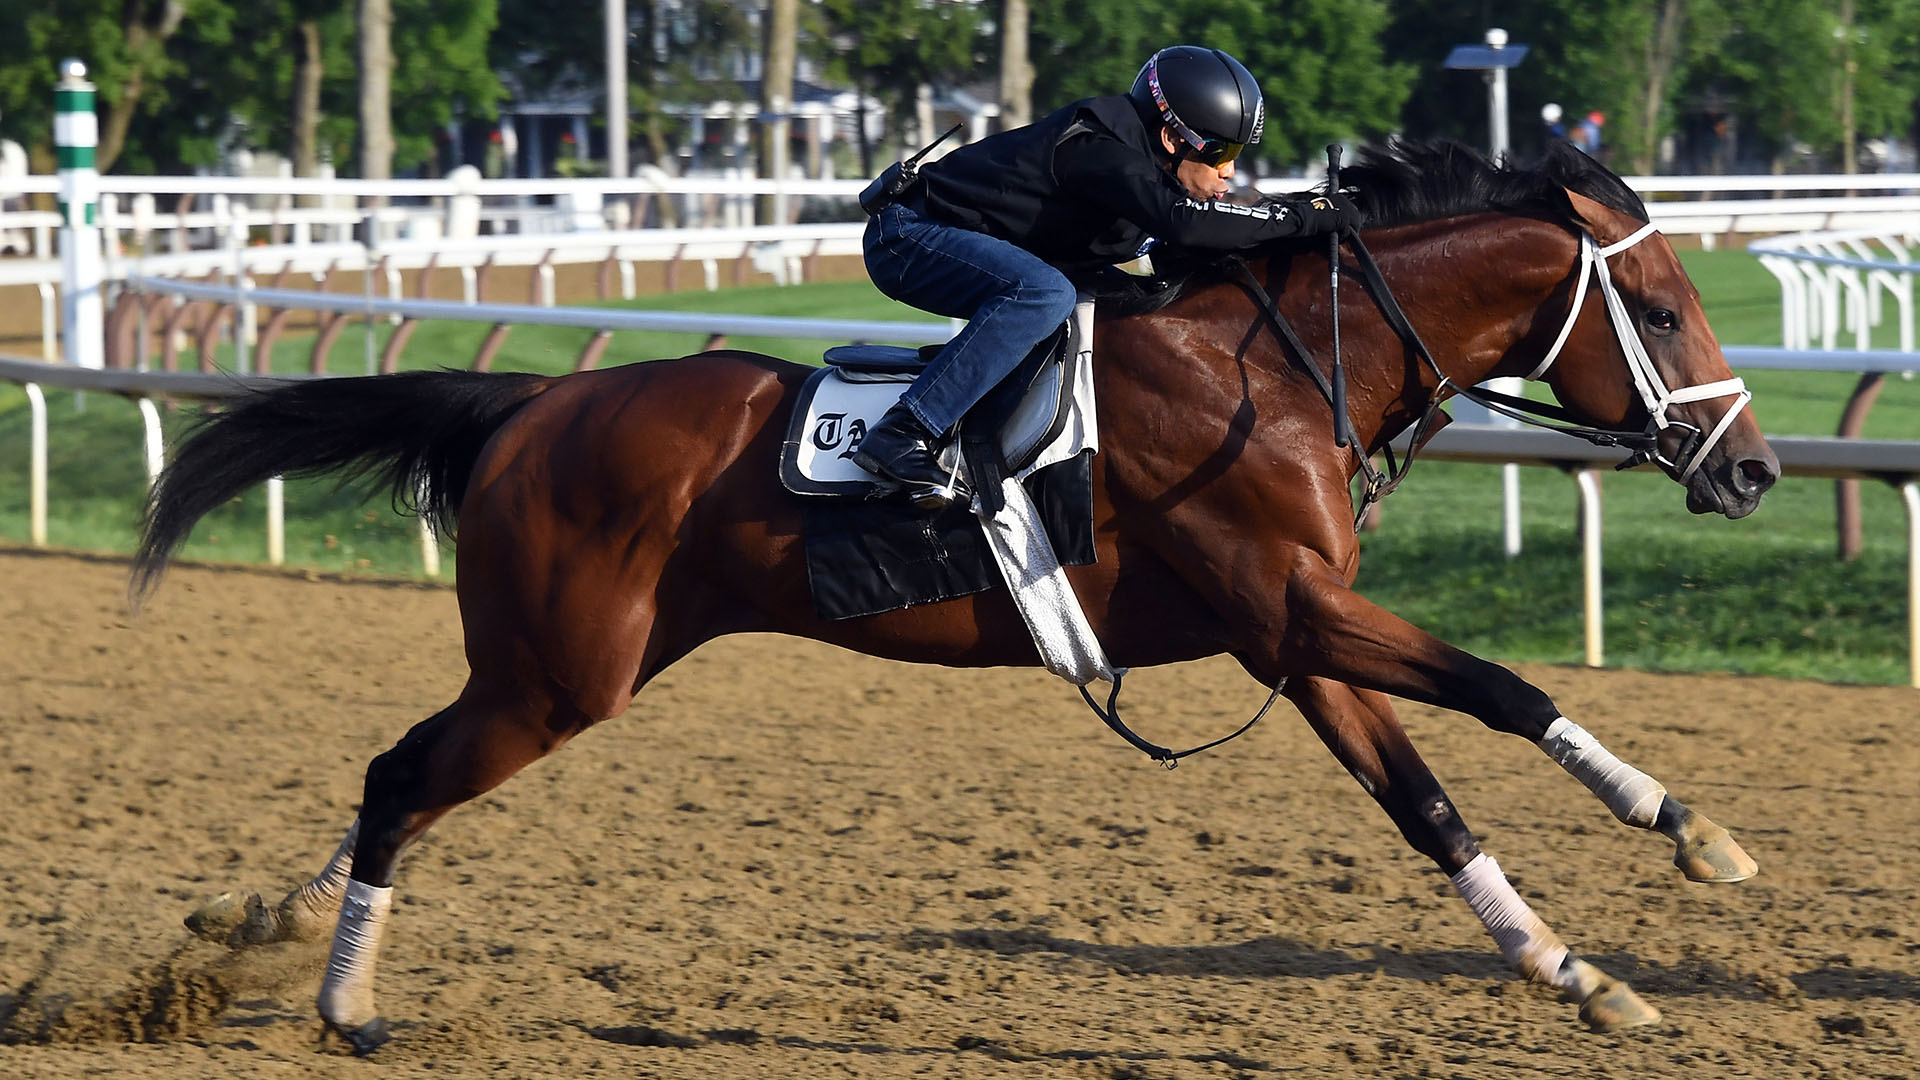
<svg viewBox="0 0 1920 1080">
<path fill-rule="evenodd" d="M 1380 803 L 1407 844 L 1452 878 L 1453 890 L 1480 917 L 1513 970 L 1578 1001 L 1580 1019 L 1596 1030 L 1659 1022 L 1657 1009 L 1624 982 L 1572 955 L 1521 899 L 1500 863 L 1480 851 L 1382 694 L 1329 678 L 1292 678 L 1286 698 Z"/>
</svg>

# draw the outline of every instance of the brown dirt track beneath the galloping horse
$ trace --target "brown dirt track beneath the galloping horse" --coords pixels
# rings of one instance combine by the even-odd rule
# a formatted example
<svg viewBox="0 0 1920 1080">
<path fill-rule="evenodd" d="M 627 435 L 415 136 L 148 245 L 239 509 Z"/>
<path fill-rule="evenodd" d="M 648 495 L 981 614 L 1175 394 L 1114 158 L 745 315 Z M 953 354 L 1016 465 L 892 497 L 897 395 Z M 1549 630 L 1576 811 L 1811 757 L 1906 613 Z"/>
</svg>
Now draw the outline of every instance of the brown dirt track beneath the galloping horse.
<svg viewBox="0 0 1920 1080">
<path fill-rule="evenodd" d="M 1306 724 L 1152 769 L 1029 671 L 718 642 L 442 822 L 321 1045 L 321 953 L 180 919 L 276 899 L 369 757 L 459 688 L 453 596 L 0 550 L 0 1076 L 1920 1074 L 1920 694 L 1530 667 L 1761 861 L 1693 886 L 1540 751 L 1402 711 L 1540 913 L 1667 1019 L 1513 980 Z M 1258 705 L 1129 680 L 1152 738 Z"/>
</svg>

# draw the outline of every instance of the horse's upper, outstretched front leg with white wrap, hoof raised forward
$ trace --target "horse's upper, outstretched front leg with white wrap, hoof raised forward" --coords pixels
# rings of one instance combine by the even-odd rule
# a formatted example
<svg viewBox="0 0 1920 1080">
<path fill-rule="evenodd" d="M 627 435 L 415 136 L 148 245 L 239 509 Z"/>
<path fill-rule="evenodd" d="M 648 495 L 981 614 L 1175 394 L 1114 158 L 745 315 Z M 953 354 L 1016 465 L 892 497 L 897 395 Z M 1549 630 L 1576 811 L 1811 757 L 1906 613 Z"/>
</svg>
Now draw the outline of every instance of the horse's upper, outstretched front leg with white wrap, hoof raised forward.
<svg viewBox="0 0 1920 1080">
<path fill-rule="evenodd" d="M 1640 769 L 1569 721 L 1538 686 L 1384 611 L 1325 565 L 1288 586 L 1284 667 L 1457 709 L 1534 742 L 1594 792 L 1613 817 L 1674 842 L 1674 865 L 1695 882 L 1740 882 L 1759 867 L 1718 824 L 1688 809 Z"/>
</svg>

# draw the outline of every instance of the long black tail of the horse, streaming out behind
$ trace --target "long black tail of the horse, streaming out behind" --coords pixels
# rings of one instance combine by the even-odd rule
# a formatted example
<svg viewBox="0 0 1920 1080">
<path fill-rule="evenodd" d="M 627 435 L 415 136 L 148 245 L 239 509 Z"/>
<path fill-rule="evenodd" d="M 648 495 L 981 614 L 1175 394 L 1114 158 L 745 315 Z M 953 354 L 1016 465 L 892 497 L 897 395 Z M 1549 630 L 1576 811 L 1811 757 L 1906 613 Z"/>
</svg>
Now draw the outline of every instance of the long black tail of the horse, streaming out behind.
<svg viewBox="0 0 1920 1080">
<path fill-rule="evenodd" d="M 538 375 L 407 371 L 236 398 L 192 430 L 148 496 L 132 598 L 154 590 L 202 515 L 269 477 L 372 477 L 396 505 L 449 532 L 480 448 L 545 384 Z"/>
</svg>

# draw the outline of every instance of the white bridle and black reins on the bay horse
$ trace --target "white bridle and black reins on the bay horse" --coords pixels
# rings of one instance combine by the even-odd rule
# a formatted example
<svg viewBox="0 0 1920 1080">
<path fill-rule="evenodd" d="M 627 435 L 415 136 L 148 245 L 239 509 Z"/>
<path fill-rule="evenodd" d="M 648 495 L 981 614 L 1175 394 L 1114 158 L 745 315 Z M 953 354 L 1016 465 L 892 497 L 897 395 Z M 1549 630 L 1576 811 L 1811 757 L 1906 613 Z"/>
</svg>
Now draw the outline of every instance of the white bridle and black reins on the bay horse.
<svg viewBox="0 0 1920 1080">
<path fill-rule="evenodd" d="M 1553 361 L 1559 357 L 1561 348 L 1565 348 L 1567 338 L 1572 336 L 1572 325 L 1580 317 L 1580 309 L 1586 304 L 1588 277 L 1592 271 L 1592 277 L 1599 281 L 1599 292 L 1607 304 L 1607 323 L 1613 327 L 1615 338 L 1619 338 L 1620 342 L 1620 352 L 1626 356 L 1626 369 L 1632 375 L 1634 390 L 1640 394 L 1640 400 L 1647 409 L 1647 427 L 1642 430 L 1626 430 L 1626 429 L 1603 429 L 1580 423 L 1576 415 L 1551 402 L 1534 402 L 1528 398 L 1488 390 L 1484 386 L 1461 386 L 1459 382 L 1453 382 L 1453 379 L 1440 369 L 1440 363 L 1434 359 L 1432 352 L 1427 350 L 1427 342 L 1423 342 L 1419 331 L 1413 329 L 1413 323 L 1407 319 L 1405 309 L 1400 307 L 1400 302 L 1394 298 L 1392 288 L 1388 288 L 1386 284 L 1386 277 L 1380 273 L 1380 265 L 1373 259 L 1373 252 L 1369 252 L 1367 244 L 1359 238 L 1359 231 L 1357 229 L 1344 231 L 1340 238 L 1352 244 L 1354 261 L 1359 267 L 1361 282 L 1365 284 L 1367 294 L 1373 298 L 1375 306 L 1380 309 L 1380 315 L 1386 319 L 1386 325 L 1394 331 L 1394 334 L 1400 336 L 1402 342 L 1405 342 L 1407 348 L 1411 348 L 1427 363 L 1428 369 L 1432 369 L 1434 377 L 1438 379 L 1438 382 L 1434 384 L 1432 392 L 1427 398 L 1427 407 L 1421 411 L 1421 419 L 1413 423 L 1413 438 L 1407 444 L 1405 457 L 1396 459 L 1392 444 L 1382 446 L 1382 454 L 1386 455 L 1386 473 L 1380 473 L 1379 469 L 1373 467 L 1371 455 L 1363 446 L 1359 446 L 1357 442 L 1354 444 L 1354 459 L 1357 463 L 1359 475 L 1363 477 L 1361 496 L 1354 511 L 1354 530 L 1356 532 L 1359 530 L 1373 503 L 1392 494 L 1405 479 L 1407 471 L 1413 467 L 1413 457 L 1419 454 L 1421 446 L 1425 446 L 1427 436 L 1434 429 L 1434 421 L 1440 417 L 1440 405 L 1453 396 L 1467 398 L 1469 402 L 1478 402 L 1490 411 L 1501 413 L 1505 417 L 1511 417 L 1515 421 L 1532 427 L 1542 427 L 1548 430 L 1557 430 L 1561 434 L 1582 438 L 1586 442 L 1592 442 L 1594 446 L 1626 448 L 1632 454 L 1624 461 L 1615 465 L 1615 469 L 1632 469 L 1634 465 L 1645 461 L 1657 461 L 1663 467 L 1670 469 L 1672 473 L 1678 473 L 1678 479 L 1684 484 L 1693 475 L 1693 471 L 1699 469 L 1699 463 L 1707 457 L 1707 452 L 1713 450 L 1713 446 L 1720 442 L 1720 436 L 1726 434 L 1726 429 L 1732 427 L 1734 417 L 1740 415 L 1740 409 L 1753 400 L 1753 394 L 1747 390 L 1745 380 L 1738 377 L 1720 379 L 1716 382 L 1703 382 L 1699 386 L 1682 386 L 1680 390 L 1668 388 L 1667 380 L 1661 379 L 1659 369 L 1653 365 L 1653 357 L 1647 356 L 1645 344 L 1640 340 L 1640 334 L 1632 331 L 1632 317 L 1626 313 L 1626 302 L 1620 300 L 1619 290 L 1613 286 L 1613 275 L 1607 271 L 1607 256 L 1624 252 L 1626 248 L 1632 248 L 1634 244 L 1645 240 L 1653 233 L 1655 227 L 1647 223 L 1640 227 L 1632 236 L 1626 236 L 1624 240 L 1609 244 L 1605 248 L 1594 242 L 1592 233 L 1586 231 L 1580 233 L 1580 261 L 1574 267 L 1578 284 L 1574 286 L 1572 306 L 1567 311 L 1567 325 L 1561 327 L 1561 332 L 1553 340 L 1553 348 L 1548 350 L 1546 359 L 1542 359 L 1540 365 L 1536 365 L 1534 371 L 1526 375 L 1526 379 L 1540 379 L 1542 375 L 1546 375 L 1549 367 L 1553 367 Z M 1260 282 L 1252 267 L 1246 265 L 1246 259 L 1242 259 L 1240 256 L 1231 256 L 1229 261 L 1233 261 L 1233 265 L 1238 267 L 1240 275 L 1246 279 L 1246 284 L 1250 286 L 1250 292 L 1260 302 L 1260 307 L 1265 313 L 1267 321 L 1273 325 L 1275 332 L 1286 342 L 1286 346 L 1294 352 L 1294 356 L 1300 359 L 1300 365 L 1306 367 L 1308 375 L 1313 377 L 1313 382 L 1319 386 L 1321 396 L 1327 398 L 1329 404 L 1334 404 L 1336 384 L 1331 384 L 1327 377 L 1321 373 L 1319 365 L 1313 363 L 1313 356 L 1300 340 L 1300 334 L 1294 332 L 1294 329 L 1281 315 L 1281 309 L 1275 306 L 1273 294 L 1269 294 L 1267 288 Z M 1334 265 L 1334 273 L 1338 273 L 1338 263 Z M 1334 332 L 1338 332 L 1340 325 L 1338 306 L 1332 309 L 1332 321 L 1336 327 Z M 1726 409 L 1726 413 L 1720 417 L 1720 423 L 1715 425 L 1713 432 L 1703 432 L 1697 425 L 1667 415 L 1667 409 L 1670 405 L 1703 402 L 1709 398 L 1736 398 L 1734 405 Z M 1342 421 L 1348 421 L 1348 417 L 1334 419 L 1336 430 L 1346 427 Z M 1680 444 L 1680 452 L 1674 455 L 1678 461 L 1668 459 L 1659 450 L 1659 434 L 1667 429 L 1686 430 L 1686 438 Z"/>
</svg>

